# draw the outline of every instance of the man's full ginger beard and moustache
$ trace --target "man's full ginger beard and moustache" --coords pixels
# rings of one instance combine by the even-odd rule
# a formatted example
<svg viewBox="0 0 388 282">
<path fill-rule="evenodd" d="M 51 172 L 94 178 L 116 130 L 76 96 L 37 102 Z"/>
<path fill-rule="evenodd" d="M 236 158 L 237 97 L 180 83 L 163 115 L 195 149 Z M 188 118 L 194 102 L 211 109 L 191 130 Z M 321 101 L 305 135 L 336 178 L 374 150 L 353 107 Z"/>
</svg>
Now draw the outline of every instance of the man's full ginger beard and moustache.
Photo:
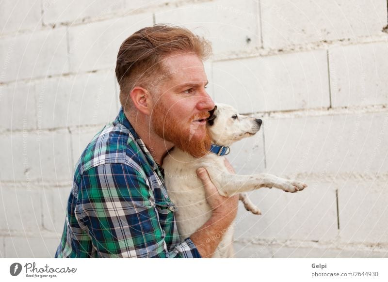
<svg viewBox="0 0 388 282">
<path fill-rule="evenodd" d="M 203 157 L 210 150 L 210 130 L 205 125 L 205 136 L 198 137 L 195 135 L 195 131 L 198 127 L 204 125 L 197 125 L 192 121 L 206 119 L 207 117 L 209 117 L 209 113 L 203 112 L 191 116 L 190 119 L 175 120 L 172 113 L 169 114 L 168 109 L 162 105 L 161 101 L 158 101 L 151 115 L 151 123 L 155 133 L 164 140 L 174 143 L 180 150 L 189 153 L 193 157 Z"/>
</svg>

